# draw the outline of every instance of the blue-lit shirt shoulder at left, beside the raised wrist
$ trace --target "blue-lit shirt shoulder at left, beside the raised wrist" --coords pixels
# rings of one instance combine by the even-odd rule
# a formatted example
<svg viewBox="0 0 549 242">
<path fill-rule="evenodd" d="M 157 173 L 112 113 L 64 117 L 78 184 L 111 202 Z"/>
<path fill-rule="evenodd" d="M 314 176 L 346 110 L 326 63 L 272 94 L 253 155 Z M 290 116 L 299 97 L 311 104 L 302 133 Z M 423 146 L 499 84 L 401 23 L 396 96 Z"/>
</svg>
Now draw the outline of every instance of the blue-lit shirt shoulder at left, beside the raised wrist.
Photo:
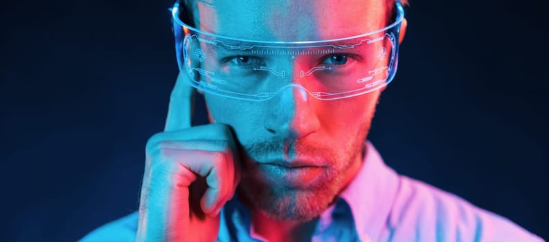
<svg viewBox="0 0 549 242">
<path fill-rule="evenodd" d="M 118 218 L 115 221 L 111 221 L 96 230 L 93 230 L 84 238 L 80 239 L 80 242 L 123 242 L 123 241 L 135 241 L 137 232 L 137 220 L 138 213 L 133 212 L 122 218 Z"/>
</svg>

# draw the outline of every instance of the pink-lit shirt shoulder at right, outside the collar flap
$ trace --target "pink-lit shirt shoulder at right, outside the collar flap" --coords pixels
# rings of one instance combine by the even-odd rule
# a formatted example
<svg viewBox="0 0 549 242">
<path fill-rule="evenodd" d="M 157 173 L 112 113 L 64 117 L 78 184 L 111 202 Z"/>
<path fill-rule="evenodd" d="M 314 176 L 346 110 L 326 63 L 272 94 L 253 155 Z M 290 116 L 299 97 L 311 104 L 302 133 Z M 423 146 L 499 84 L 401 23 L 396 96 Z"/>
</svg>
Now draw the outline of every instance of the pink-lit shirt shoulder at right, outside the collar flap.
<svg viewBox="0 0 549 242">
<path fill-rule="evenodd" d="M 400 176 L 388 227 L 394 241 L 542 241 L 507 218 L 406 176 Z"/>
</svg>

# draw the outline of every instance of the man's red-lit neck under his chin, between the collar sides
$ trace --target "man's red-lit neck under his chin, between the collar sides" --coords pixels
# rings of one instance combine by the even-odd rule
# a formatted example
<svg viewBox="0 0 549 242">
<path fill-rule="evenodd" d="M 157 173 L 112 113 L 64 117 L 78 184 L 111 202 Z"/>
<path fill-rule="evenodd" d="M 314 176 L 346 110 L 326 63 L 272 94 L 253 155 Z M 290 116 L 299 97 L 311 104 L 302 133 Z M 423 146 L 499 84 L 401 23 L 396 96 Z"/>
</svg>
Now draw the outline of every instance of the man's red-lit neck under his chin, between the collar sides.
<svg viewBox="0 0 549 242">
<path fill-rule="evenodd" d="M 270 242 L 311 241 L 318 222 L 318 218 L 307 222 L 277 221 L 258 210 L 251 212 L 251 219 L 253 232 Z"/>
</svg>

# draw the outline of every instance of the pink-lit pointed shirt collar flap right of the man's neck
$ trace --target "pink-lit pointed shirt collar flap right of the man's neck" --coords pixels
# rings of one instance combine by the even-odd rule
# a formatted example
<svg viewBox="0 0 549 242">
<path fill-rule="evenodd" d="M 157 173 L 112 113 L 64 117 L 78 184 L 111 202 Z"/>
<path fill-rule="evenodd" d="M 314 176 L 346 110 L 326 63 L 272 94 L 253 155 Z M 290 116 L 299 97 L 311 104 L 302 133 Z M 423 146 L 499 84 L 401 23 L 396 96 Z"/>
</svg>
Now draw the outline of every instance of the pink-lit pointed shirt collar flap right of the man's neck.
<svg viewBox="0 0 549 242">
<path fill-rule="evenodd" d="M 395 200 L 399 177 L 372 145 L 366 141 L 366 156 L 352 181 L 339 194 L 351 207 L 355 227 L 362 241 L 378 241 Z"/>
</svg>

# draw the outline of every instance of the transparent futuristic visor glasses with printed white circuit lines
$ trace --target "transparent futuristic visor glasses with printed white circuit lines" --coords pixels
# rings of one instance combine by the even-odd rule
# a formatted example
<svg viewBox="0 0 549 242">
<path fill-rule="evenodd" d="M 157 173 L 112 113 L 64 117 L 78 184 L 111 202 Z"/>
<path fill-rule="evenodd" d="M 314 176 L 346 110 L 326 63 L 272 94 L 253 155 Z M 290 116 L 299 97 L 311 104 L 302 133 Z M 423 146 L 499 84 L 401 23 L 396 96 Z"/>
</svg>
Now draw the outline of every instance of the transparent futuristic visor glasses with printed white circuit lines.
<svg viewBox="0 0 549 242">
<path fill-rule="evenodd" d="M 398 10 L 395 24 L 366 35 L 269 42 L 202 32 L 181 23 L 174 8 L 174 19 L 183 28 L 176 35 L 182 42 L 180 68 L 191 86 L 242 100 L 269 100 L 287 86 L 301 86 L 321 100 L 361 95 L 395 75 L 402 8 Z"/>
</svg>

